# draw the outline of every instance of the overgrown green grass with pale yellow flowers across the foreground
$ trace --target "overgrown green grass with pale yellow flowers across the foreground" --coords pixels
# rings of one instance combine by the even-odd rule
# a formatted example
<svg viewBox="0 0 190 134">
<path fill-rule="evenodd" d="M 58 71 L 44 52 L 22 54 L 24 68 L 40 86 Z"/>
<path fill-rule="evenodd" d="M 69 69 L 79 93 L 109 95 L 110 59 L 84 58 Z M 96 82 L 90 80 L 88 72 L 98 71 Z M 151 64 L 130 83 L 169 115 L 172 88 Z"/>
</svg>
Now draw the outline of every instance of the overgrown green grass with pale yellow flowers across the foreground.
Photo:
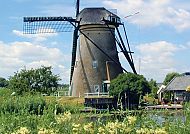
<svg viewBox="0 0 190 134">
<path fill-rule="evenodd" d="M 6 89 L 4 89 L 6 90 Z M 4 93 L 2 93 L 4 92 Z M 0 91 L 0 134 L 179 134 L 190 132 L 190 103 L 179 111 L 80 113 L 84 98 L 10 96 Z M 125 113 L 125 114 L 124 114 Z M 179 118 L 176 118 L 179 117 Z M 185 119 L 184 119 L 185 117 Z"/>
</svg>

